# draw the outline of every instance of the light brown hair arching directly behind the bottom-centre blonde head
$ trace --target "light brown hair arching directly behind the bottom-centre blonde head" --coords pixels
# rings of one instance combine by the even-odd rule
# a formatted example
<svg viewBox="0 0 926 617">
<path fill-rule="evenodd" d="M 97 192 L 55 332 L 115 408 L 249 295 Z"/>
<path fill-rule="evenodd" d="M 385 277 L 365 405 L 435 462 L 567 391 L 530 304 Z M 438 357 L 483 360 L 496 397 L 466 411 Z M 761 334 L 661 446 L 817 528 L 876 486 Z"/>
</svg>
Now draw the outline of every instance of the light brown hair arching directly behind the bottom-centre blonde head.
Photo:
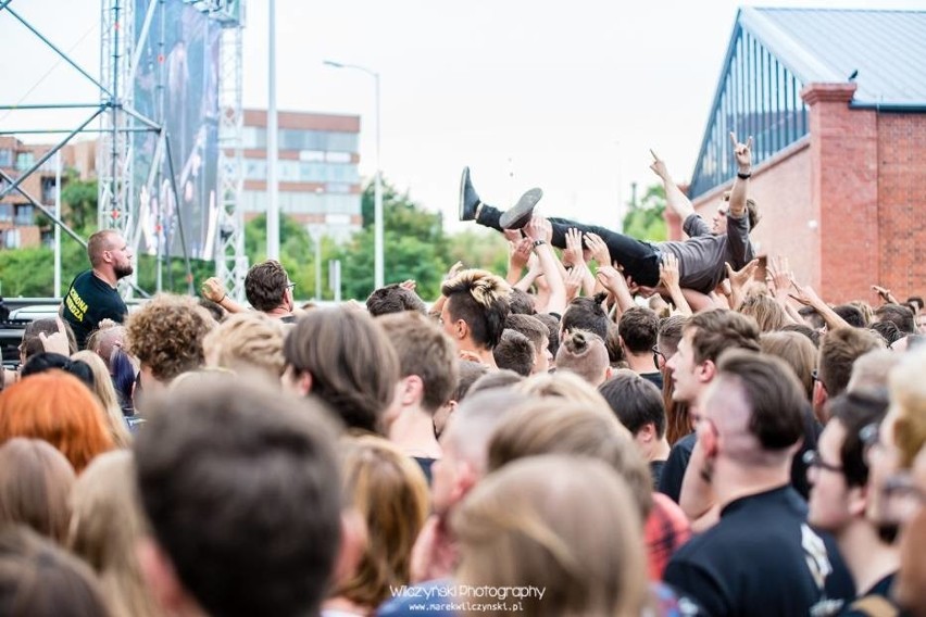
<svg viewBox="0 0 926 617">
<path fill-rule="evenodd" d="M 492 433 L 488 470 L 541 454 L 597 458 L 627 481 L 640 518 L 652 508 L 653 480 L 639 449 L 614 414 L 563 400 L 527 401 Z"/>
</svg>

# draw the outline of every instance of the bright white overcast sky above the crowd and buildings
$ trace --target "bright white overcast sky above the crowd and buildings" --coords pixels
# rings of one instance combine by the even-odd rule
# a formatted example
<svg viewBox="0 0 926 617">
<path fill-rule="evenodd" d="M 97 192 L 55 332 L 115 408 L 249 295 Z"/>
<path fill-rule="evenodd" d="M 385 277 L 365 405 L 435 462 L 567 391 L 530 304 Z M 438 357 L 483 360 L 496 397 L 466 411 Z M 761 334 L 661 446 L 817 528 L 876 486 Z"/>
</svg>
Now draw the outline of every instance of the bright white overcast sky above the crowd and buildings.
<svg viewBox="0 0 926 617">
<path fill-rule="evenodd" d="M 690 178 L 741 4 L 277 0 L 277 104 L 361 115 L 361 173 L 372 175 L 372 78 L 322 61 L 366 66 L 381 78 L 384 174 L 448 223 L 456 217 L 460 172 L 470 165 L 486 202 L 504 205 L 539 186 L 541 212 L 616 226 L 630 182 L 653 180 L 648 148 L 676 179 Z M 926 10 L 926 0 L 755 5 Z M 10 7 L 99 74 L 99 0 Z M 246 106 L 267 102 L 267 2 L 250 0 Z M 0 75 L 0 104 L 99 98 L 3 11 Z M 0 128 L 74 126 L 82 114 L 0 111 Z"/>
</svg>

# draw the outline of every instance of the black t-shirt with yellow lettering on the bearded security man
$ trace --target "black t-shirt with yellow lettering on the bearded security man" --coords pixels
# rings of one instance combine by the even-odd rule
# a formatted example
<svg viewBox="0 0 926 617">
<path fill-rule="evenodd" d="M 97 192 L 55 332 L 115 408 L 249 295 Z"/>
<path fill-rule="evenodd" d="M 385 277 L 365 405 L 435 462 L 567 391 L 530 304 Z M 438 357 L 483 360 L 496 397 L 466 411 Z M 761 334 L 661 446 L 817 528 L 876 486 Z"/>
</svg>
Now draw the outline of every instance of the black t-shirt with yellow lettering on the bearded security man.
<svg viewBox="0 0 926 617">
<path fill-rule="evenodd" d="M 100 322 L 112 319 L 122 324 L 128 313 L 118 292 L 93 270 L 74 277 L 63 304 L 63 316 L 74 330 L 78 349 L 87 347 L 87 337 L 100 326 Z"/>
</svg>

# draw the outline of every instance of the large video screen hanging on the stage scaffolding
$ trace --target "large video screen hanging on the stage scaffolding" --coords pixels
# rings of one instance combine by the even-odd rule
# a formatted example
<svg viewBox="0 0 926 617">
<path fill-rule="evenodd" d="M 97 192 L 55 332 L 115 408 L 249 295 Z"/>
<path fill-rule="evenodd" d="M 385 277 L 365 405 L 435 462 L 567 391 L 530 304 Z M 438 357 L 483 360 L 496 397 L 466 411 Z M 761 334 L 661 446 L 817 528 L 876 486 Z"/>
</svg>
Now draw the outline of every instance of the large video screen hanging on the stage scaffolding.
<svg viewBox="0 0 926 617">
<path fill-rule="evenodd" d="M 134 134 L 138 250 L 179 256 L 183 228 L 189 256 L 210 260 L 218 211 L 221 28 L 183 0 L 135 0 L 136 47 L 152 2 L 155 8 L 136 72 L 134 106 L 161 124 L 170 139 L 159 153 L 155 133 Z"/>
</svg>

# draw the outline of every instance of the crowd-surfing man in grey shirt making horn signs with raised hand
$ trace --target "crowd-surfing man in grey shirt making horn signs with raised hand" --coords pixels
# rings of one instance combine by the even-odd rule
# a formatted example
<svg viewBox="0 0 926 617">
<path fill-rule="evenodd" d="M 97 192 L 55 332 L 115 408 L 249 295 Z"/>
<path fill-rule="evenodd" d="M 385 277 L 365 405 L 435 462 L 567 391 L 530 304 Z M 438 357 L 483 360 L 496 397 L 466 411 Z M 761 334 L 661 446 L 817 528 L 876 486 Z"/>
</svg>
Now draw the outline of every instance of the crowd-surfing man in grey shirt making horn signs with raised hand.
<svg viewBox="0 0 926 617">
<path fill-rule="evenodd" d="M 564 249 L 566 232 L 571 228 L 578 229 L 584 236 L 596 235 L 608 245 L 611 261 L 623 267 L 625 276 L 646 288 L 642 291 L 651 290 L 665 297 L 668 293 L 660 287 L 660 264 L 664 254 L 672 254 L 678 261 L 679 286 L 703 294 L 711 293 L 727 277 L 726 264 L 739 270 L 755 259 L 749 232 L 759 223 L 759 210 L 751 199 L 747 199 L 747 185 L 752 175 L 752 137 L 740 143 L 731 133 L 730 140 L 738 172 L 729 194 L 725 197 L 728 207 L 717 211 L 712 225 L 694 212 L 691 201 L 673 181 L 665 163 L 651 151 L 654 162 L 650 168 L 662 179 L 666 203 L 681 218 L 687 240 L 651 243 L 604 227 L 550 218 L 552 236 L 548 241 Z M 460 219 L 476 221 L 499 231 L 521 229 L 530 219 L 542 194 L 540 189 L 530 189 L 513 207 L 502 212 L 479 199 L 467 167 L 463 169 L 460 184 Z"/>
</svg>

